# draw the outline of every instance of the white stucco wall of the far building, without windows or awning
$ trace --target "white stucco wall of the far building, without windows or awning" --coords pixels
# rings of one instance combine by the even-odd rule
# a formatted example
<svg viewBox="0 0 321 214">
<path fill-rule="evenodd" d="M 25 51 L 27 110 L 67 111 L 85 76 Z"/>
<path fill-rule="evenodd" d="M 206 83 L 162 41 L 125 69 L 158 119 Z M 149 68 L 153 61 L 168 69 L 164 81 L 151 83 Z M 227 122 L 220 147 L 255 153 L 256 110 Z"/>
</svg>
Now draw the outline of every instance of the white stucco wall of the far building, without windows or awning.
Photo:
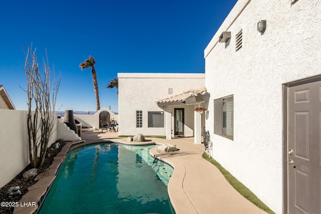
<svg viewBox="0 0 321 214">
<path fill-rule="evenodd" d="M 118 110 L 119 135 L 160 135 L 166 136 L 166 124 L 170 124 L 164 116 L 164 128 L 148 128 L 148 111 L 164 111 L 166 107 L 158 107 L 155 100 L 169 97 L 169 88 L 173 94 L 182 93 L 189 89 L 204 87 L 205 74 L 165 74 L 165 73 L 118 73 Z M 186 108 L 185 115 L 193 112 L 191 106 Z M 193 110 L 191 110 L 193 109 Z M 142 111 L 142 128 L 136 128 L 136 111 Z M 174 116 L 173 108 L 168 113 Z M 185 117 L 187 118 L 187 117 Z M 194 116 L 193 116 L 194 118 Z M 169 119 L 172 120 L 172 119 Z M 185 135 L 193 136 L 194 120 L 185 121 Z"/>
</svg>

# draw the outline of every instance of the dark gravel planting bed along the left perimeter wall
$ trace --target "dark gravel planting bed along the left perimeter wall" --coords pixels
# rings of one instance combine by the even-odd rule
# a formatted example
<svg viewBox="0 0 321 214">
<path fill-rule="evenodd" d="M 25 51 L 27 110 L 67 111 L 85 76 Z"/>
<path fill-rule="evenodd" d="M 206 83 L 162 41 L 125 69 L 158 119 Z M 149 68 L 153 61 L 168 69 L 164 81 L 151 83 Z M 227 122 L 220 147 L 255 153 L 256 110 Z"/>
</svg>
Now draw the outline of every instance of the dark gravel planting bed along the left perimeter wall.
<svg viewBox="0 0 321 214">
<path fill-rule="evenodd" d="M 63 142 L 61 140 L 59 141 L 59 143 L 61 144 L 61 146 L 58 149 L 55 149 L 55 147 L 53 146 L 55 143 L 53 143 L 51 145 L 51 147 L 48 148 L 44 164 L 41 167 L 37 168 L 38 174 L 45 171 L 45 169 L 47 169 L 51 165 L 52 161 L 54 160 L 54 157 L 60 152 L 61 148 L 65 145 L 65 142 Z M 48 153 L 51 153 L 53 155 L 51 157 L 48 157 Z M 22 196 L 27 193 L 28 187 L 30 187 L 36 183 L 36 181 L 34 181 L 34 177 L 31 177 L 31 178 L 24 178 L 23 177 L 23 174 L 30 169 L 32 169 L 32 168 L 29 164 L 14 179 L 12 179 L 9 183 L 7 183 L 5 186 L 0 188 L 0 202 L 18 202 L 22 198 Z M 20 186 L 21 194 L 13 196 L 13 197 L 8 197 L 7 191 L 12 186 Z M 0 206 L 0 213 L 1 214 L 13 213 L 13 212 L 14 212 L 14 207 Z"/>
</svg>

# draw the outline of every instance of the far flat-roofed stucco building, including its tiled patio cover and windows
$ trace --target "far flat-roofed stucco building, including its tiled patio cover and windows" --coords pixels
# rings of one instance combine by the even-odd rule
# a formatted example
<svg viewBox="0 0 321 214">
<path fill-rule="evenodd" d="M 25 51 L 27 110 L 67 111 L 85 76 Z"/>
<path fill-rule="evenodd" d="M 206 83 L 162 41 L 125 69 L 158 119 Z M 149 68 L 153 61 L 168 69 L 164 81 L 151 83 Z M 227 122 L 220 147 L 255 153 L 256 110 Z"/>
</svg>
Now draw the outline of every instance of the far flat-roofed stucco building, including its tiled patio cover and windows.
<svg viewBox="0 0 321 214">
<path fill-rule="evenodd" d="M 204 86 L 205 74 L 118 73 L 119 135 L 195 136 L 201 143 L 205 114 L 194 109 L 209 99 Z"/>
</svg>

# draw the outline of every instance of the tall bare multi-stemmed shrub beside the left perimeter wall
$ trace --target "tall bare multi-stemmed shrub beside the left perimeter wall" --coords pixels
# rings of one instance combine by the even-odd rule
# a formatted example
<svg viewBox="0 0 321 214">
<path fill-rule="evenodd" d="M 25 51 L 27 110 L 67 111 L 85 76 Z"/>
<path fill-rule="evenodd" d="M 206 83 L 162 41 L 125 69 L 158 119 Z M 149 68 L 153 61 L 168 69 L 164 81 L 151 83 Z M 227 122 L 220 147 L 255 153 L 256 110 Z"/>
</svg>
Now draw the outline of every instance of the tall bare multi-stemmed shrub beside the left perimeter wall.
<svg viewBox="0 0 321 214">
<path fill-rule="evenodd" d="M 27 80 L 28 96 L 28 142 L 29 158 L 32 167 L 39 167 L 45 160 L 48 143 L 51 139 L 54 124 L 56 120 L 55 105 L 58 89 L 61 81 L 61 75 L 54 77 L 53 92 L 51 94 L 51 78 L 48 54 L 46 50 L 46 61 L 43 59 L 43 75 L 39 72 L 36 49 L 32 51 L 31 47 L 26 52 L 25 73 Z M 34 105 L 34 111 L 32 106 Z"/>
</svg>

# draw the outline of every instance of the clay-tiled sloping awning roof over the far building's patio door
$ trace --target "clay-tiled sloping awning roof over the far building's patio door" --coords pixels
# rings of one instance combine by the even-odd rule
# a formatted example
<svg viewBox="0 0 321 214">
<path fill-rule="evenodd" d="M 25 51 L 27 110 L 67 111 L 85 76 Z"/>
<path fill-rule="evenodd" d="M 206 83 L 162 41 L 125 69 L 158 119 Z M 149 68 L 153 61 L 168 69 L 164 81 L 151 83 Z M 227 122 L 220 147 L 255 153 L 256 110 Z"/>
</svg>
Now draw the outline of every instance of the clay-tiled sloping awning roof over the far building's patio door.
<svg viewBox="0 0 321 214">
<path fill-rule="evenodd" d="M 193 103 L 202 103 L 208 101 L 210 93 L 207 92 L 206 87 L 191 89 L 181 94 L 176 94 L 167 98 L 156 100 L 158 106 L 171 105 L 188 105 Z"/>
</svg>

